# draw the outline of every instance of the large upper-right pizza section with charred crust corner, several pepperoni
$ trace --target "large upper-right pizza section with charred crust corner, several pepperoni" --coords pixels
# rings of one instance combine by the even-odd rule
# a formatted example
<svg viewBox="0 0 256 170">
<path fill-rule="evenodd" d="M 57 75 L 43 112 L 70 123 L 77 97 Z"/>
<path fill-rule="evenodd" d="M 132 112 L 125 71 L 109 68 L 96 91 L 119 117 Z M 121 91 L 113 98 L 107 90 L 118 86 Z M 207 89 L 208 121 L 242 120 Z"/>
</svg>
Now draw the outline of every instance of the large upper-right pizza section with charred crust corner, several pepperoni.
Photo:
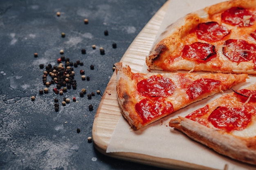
<svg viewBox="0 0 256 170">
<path fill-rule="evenodd" d="M 189 13 L 154 42 L 151 70 L 256 75 L 256 0 L 230 0 Z"/>
</svg>

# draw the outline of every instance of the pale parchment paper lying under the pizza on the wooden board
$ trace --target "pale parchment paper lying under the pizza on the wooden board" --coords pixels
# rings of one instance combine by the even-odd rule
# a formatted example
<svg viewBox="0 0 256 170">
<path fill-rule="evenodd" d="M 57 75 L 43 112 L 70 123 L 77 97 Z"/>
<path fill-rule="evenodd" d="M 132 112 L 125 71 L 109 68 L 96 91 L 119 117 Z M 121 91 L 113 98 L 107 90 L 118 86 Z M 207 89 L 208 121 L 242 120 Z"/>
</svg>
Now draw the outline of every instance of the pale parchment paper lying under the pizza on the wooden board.
<svg viewBox="0 0 256 170">
<path fill-rule="evenodd" d="M 171 0 L 156 37 L 164 31 L 166 26 L 175 22 L 175 20 L 184 16 L 186 13 L 221 1 L 224 0 Z M 141 72 L 147 72 L 147 67 L 144 66 Z M 234 89 L 249 86 L 249 84 L 254 82 L 256 82 L 255 78 L 251 77 L 246 83 L 235 86 Z M 205 106 L 206 103 L 213 99 L 230 92 L 231 90 L 228 90 L 191 104 L 137 131 L 132 130 L 126 120 L 121 117 L 112 134 L 106 152 L 133 152 L 153 157 L 186 161 L 220 170 L 223 170 L 226 164 L 228 165 L 228 170 L 255 170 L 255 166 L 240 163 L 222 156 L 206 146 L 191 140 L 181 132 L 168 127 L 168 121 L 176 118 L 177 115 L 186 116 L 192 111 Z"/>
</svg>

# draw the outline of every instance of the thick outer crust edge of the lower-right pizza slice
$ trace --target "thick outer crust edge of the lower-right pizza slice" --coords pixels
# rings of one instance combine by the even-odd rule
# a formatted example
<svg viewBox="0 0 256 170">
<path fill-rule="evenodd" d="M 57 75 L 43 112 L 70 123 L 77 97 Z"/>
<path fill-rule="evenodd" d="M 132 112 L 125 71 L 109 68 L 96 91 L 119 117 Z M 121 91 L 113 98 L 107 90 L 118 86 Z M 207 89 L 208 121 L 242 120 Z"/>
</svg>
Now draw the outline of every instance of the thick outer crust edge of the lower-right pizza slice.
<svg viewBox="0 0 256 170">
<path fill-rule="evenodd" d="M 169 126 L 222 155 L 256 165 L 256 137 L 238 137 L 222 130 L 207 128 L 184 117 L 172 119 Z"/>
</svg>

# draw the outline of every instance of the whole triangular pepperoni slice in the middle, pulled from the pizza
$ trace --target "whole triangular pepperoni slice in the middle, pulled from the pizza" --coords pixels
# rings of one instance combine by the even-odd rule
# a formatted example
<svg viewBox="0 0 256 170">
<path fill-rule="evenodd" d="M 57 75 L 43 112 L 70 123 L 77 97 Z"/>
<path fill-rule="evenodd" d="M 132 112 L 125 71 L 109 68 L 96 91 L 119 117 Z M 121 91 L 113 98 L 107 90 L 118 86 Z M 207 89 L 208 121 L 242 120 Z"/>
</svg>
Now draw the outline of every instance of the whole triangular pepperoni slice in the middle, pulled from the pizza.
<svg viewBox="0 0 256 170">
<path fill-rule="evenodd" d="M 132 73 L 121 62 L 115 66 L 121 113 L 135 130 L 248 78 L 224 73 Z"/>
</svg>

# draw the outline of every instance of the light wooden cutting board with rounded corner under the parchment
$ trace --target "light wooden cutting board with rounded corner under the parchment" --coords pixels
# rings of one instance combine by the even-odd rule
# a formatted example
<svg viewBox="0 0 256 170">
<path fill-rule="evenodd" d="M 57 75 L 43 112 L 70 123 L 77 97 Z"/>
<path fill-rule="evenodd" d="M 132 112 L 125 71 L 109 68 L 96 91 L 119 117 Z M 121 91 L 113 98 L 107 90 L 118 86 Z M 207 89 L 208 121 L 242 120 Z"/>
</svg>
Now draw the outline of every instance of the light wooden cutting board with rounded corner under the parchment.
<svg viewBox="0 0 256 170">
<path fill-rule="evenodd" d="M 141 72 L 141 69 L 145 64 L 145 57 L 148 55 L 153 45 L 155 37 L 162 24 L 162 20 L 164 19 L 169 2 L 170 0 L 168 0 L 159 9 L 159 11 L 155 13 L 153 18 L 151 18 L 146 26 L 141 30 L 132 44 L 130 44 L 124 56 L 121 58 L 120 62 L 129 65 L 132 69 L 132 72 Z M 161 168 L 178 168 L 184 170 L 216 170 L 184 161 L 163 159 L 131 152 L 106 153 L 112 132 L 115 130 L 120 117 L 121 111 L 119 109 L 116 95 L 116 74 L 113 73 L 108 86 L 106 87 L 106 91 L 103 93 L 92 127 L 93 143 L 99 152 L 110 157 L 158 166 Z"/>
</svg>

